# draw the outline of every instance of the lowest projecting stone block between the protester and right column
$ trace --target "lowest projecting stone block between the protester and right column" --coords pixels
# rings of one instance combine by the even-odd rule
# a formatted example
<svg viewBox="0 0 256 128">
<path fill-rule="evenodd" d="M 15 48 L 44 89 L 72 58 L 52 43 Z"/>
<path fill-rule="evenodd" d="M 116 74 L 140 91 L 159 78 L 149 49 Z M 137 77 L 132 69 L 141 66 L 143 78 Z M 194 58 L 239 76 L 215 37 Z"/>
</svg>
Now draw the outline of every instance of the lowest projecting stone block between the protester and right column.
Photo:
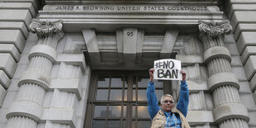
<svg viewBox="0 0 256 128">
<path fill-rule="evenodd" d="M 188 111 L 186 118 L 188 123 L 192 126 L 202 125 L 206 122 L 214 122 L 212 111 Z"/>
</svg>

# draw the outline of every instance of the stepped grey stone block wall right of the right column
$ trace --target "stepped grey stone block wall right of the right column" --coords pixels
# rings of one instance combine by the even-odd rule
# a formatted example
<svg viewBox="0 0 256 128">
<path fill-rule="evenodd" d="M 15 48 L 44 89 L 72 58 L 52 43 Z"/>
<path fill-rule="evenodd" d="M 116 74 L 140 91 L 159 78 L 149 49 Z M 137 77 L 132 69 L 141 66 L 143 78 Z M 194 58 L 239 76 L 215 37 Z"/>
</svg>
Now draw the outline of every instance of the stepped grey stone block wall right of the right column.
<svg viewBox="0 0 256 128">
<path fill-rule="evenodd" d="M 249 111 L 249 127 L 255 127 L 256 101 L 256 1 L 228 0 L 225 11 L 233 27 L 234 40 L 237 45 L 236 60 L 233 62 L 232 72 L 239 78 L 239 95 L 241 102 Z M 235 44 L 234 44 L 235 45 Z M 235 50 L 235 48 L 230 49 Z M 240 56 L 240 57 L 239 57 Z"/>
</svg>

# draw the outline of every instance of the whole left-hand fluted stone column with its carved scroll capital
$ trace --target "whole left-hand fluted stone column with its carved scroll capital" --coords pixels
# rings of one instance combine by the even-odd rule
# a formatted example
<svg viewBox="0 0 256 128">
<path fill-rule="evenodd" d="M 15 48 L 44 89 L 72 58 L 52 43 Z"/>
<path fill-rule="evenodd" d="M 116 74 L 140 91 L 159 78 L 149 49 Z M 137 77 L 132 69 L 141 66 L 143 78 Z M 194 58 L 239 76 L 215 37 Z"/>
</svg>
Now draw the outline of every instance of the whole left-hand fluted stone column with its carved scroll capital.
<svg viewBox="0 0 256 128">
<path fill-rule="evenodd" d="M 33 19 L 30 31 L 39 40 L 28 56 L 30 64 L 18 83 L 17 99 L 7 112 L 7 128 L 36 128 L 43 113 L 45 90 L 50 85 L 50 71 L 56 59 L 56 47 L 64 37 L 63 21 Z"/>
</svg>

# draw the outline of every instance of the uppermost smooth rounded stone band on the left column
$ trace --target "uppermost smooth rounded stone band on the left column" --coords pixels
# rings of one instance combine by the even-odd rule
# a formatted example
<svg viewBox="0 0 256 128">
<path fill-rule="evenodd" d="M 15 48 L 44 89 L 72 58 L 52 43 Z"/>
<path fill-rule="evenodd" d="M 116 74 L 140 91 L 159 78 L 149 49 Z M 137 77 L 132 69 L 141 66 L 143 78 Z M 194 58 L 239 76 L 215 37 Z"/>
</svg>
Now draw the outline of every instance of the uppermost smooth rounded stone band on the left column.
<svg viewBox="0 0 256 128">
<path fill-rule="evenodd" d="M 31 52 L 28 55 L 28 59 L 31 59 L 34 56 L 44 56 L 45 58 L 50 59 L 51 62 L 55 62 L 57 52 L 55 49 L 48 45 L 34 45 L 31 48 Z"/>
</svg>

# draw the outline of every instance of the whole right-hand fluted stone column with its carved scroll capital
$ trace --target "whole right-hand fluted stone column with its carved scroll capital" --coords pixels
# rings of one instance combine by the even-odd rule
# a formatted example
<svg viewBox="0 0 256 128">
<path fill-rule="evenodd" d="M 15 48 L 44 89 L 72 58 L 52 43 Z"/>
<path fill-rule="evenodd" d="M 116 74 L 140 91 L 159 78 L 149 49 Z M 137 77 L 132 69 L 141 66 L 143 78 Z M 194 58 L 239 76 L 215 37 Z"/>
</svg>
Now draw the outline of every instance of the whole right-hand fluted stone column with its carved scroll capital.
<svg viewBox="0 0 256 128">
<path fill-rule="evenodd" d="M 230 33 L 230 21 L 199 21 L 199 39 L 204 45 L 208 87 L 215 102 L 213 115 L 220 128 L 248 128 L 247 108 L 240 102 L 239 81 L 231 73 L 230 51 L 224 46 L 224 34 Z"/>
</svg>

